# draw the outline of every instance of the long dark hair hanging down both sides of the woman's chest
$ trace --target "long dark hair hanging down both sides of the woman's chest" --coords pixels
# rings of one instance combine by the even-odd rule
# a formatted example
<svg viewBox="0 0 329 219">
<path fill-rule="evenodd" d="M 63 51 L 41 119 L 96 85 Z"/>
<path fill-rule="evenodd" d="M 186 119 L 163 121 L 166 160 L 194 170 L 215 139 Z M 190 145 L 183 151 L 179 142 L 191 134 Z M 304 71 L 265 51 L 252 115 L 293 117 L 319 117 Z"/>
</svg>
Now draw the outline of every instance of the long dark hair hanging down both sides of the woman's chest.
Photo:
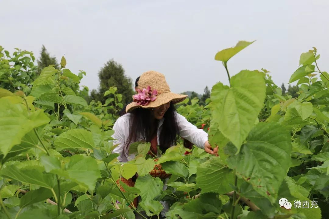
<svg viewBox="0 0 329 219">
<path fill-rule="evenodd" d="M 141 136 L 146 142 L 151 142 L 152 138 L 157 135 L 159 121 L 157 120 L 158 123 L 156 127 L 152 127 L 154 124 L 152 124 L 151 111 L 152 109 L 136 108 L 131 112 L 129 136 L 124 145 L 124 150 L 127 154 L 130 144 L 137 142 L 139 136 Z M 158 142 L 162 153 L 164 153 L 171 145 L 177 144 L 179 129 L 175 113 L 176 108 L 174 104 L 170 103 L 168 110 L 164 113 L 164 122 L 159 136 L 160 142 Z"/>
</svg>

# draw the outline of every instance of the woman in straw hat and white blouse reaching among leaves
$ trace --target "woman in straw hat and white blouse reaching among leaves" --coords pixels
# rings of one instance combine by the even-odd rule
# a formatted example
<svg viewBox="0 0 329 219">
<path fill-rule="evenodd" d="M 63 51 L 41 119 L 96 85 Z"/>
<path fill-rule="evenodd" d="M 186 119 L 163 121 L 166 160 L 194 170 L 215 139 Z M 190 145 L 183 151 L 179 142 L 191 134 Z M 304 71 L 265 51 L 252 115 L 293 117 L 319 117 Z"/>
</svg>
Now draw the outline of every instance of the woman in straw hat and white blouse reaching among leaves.
<svg viewBox="0 0 329 219">
<path fill-rule="evenodd" d="M 170 92 L 163 74 L 155 71 L 143 73 L 138 88 L 138 94 L 133 96 L 134 102 L 126 106 L 127 113 L 119 117 L 113 126 L 113 144 L 118 144 L 113 153 L 119 154 L 120 162 L 134 159 L 134 154 L 128 155 L 131 143 L 151 142 L 150 151 L 159 156 L 157 146 L 160 145 L 164 152 L 176 144 L 178 136 L 207 153 L 217 154 L 218 148 L 212 149 L 208 134 L 176 112 L 174 104 L 183 101 L 187 95 Z"/>
</svg>

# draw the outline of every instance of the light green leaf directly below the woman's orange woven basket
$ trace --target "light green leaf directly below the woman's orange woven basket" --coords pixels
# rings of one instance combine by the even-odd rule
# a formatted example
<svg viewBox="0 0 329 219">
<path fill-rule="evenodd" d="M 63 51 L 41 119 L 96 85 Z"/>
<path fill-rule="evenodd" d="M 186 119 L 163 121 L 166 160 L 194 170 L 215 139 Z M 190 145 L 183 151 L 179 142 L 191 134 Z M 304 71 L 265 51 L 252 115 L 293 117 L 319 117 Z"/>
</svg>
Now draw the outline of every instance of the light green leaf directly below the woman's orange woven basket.
<svg viewBox="0 0 329 219">
<path fill-rule="evenodd" d="M 164 184 L 159 177 L 145 175 L 138 177 L 135 187 L 140 190 L 142 201 L 151 201 L 157 197 L 163 188 Z"/>
</svg>

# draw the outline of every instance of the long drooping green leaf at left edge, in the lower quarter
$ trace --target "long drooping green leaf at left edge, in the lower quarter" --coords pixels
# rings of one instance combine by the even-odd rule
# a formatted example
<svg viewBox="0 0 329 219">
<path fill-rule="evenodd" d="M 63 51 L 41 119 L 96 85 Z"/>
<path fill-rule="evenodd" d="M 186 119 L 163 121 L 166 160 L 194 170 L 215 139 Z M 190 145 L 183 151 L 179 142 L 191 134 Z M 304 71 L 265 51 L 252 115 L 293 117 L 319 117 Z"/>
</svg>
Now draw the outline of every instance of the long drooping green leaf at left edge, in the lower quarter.
<svg viewBox="0 0 329 219">
<path fill-rule="evenodd" d="M 24 184 L 33 184 L 49 189 L 56 184 L 56 178 L 53 174 L 42 173 L 38 169 L 17 168 L 15 164 L 3 168 L 0 175 Z"/>
</svg>

